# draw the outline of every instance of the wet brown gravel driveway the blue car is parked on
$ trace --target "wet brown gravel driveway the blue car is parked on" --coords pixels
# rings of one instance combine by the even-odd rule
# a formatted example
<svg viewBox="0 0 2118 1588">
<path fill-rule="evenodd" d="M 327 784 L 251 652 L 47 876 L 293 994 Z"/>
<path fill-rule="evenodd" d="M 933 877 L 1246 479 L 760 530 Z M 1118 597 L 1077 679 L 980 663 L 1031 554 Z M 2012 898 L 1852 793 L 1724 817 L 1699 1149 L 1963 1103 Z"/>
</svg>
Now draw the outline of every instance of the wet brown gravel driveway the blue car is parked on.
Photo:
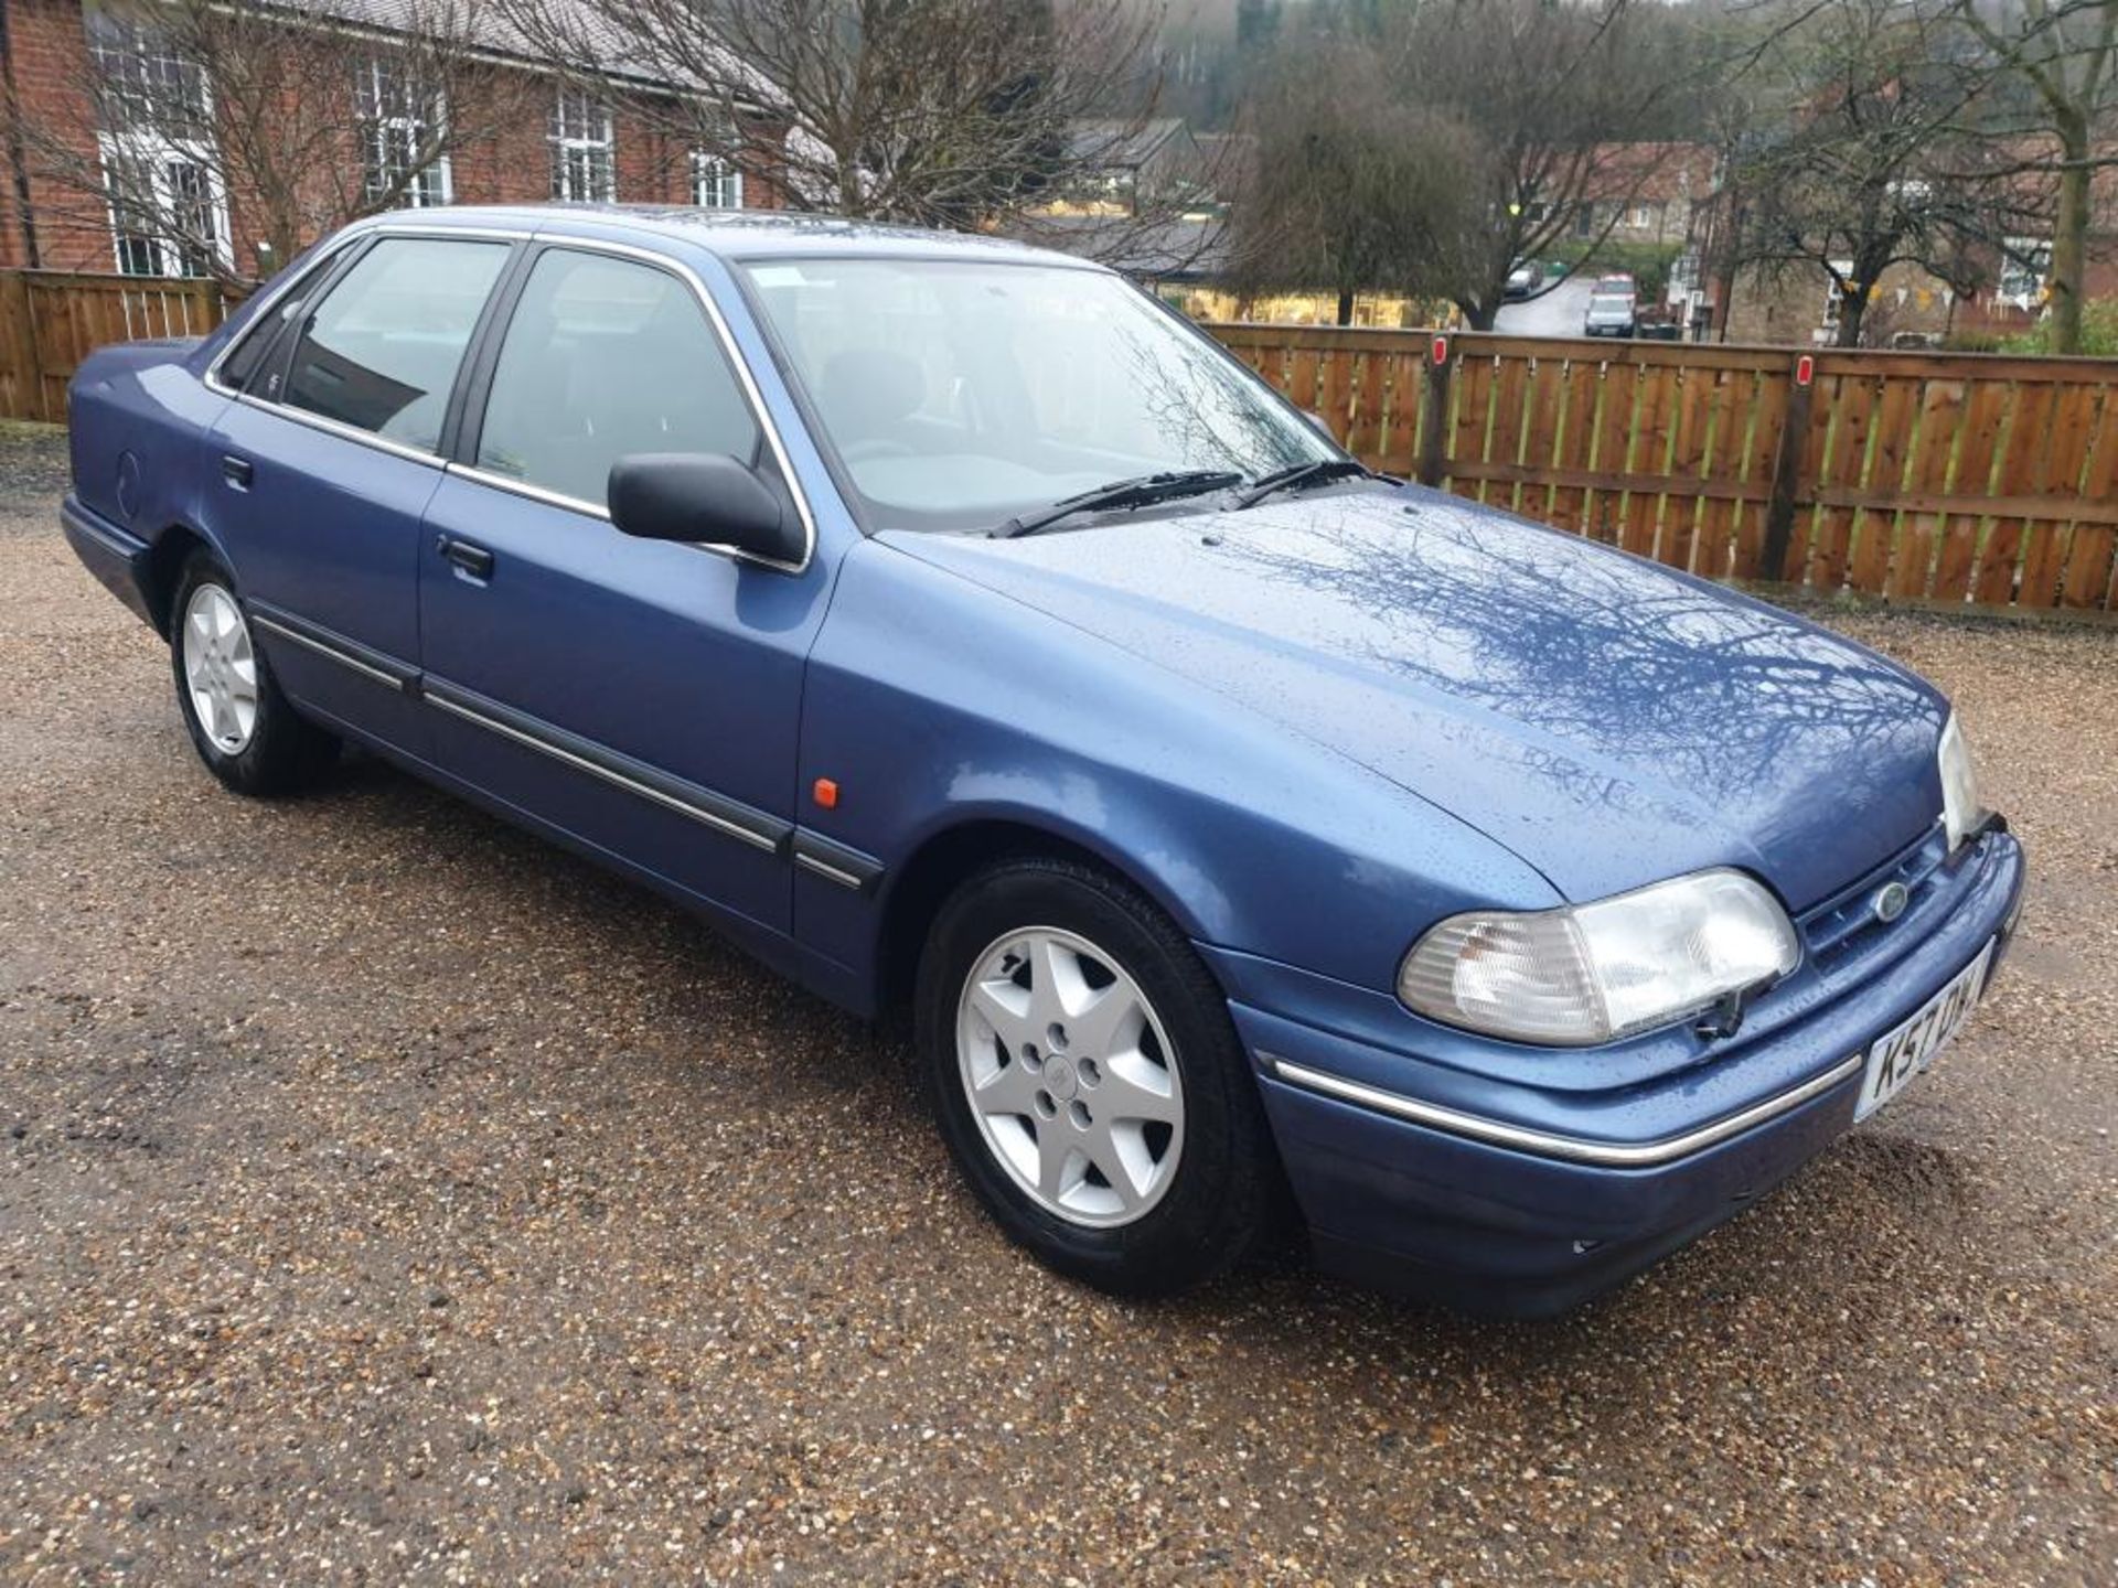
<svg viewBox="0 0 2118 1588">
<path fill-rule="evenodd" d="M 1766 1205 L 1546 1325 L 1125 1306 L 654 898 L 369 760 L 222 794 L 57 479 L 0 443 L 0 1577 L 2112 1582 L 2118 629 L 1841 625 L 2033 900 Z"/>
</svg>

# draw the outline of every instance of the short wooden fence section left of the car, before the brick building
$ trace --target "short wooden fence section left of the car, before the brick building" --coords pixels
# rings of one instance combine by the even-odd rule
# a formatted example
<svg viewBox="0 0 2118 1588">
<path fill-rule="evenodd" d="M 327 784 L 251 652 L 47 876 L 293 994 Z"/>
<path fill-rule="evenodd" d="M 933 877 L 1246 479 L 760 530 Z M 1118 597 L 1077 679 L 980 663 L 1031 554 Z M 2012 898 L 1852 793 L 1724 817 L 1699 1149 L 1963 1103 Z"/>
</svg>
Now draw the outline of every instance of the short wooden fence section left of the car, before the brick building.
<svg viewBox="0 0 2118 1588">
<path fill-rule="evenodd" d="M 66 419 L 66 383 L 112 341 L 203 337 L 227 305 L 212 282 L 0 271 L 0 419 Z"/>
</svg>

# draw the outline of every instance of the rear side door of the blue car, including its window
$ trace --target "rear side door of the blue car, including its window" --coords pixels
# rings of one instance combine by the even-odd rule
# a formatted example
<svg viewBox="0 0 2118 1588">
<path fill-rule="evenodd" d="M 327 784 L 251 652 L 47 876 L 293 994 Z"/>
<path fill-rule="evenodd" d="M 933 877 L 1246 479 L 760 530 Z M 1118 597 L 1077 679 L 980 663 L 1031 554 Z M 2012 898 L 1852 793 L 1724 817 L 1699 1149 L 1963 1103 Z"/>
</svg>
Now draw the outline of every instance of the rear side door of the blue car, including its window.
<svg viewBox="0 0 2118 1588">
<path fill-rule="evenodd" d="M 208 527 L 280 684 L 407 754 L 428 718 L 421 517 L 449 398 L 510 258 L 485 237 L 383 235 L 297 309 L 205 445 Z"/>
</svg>

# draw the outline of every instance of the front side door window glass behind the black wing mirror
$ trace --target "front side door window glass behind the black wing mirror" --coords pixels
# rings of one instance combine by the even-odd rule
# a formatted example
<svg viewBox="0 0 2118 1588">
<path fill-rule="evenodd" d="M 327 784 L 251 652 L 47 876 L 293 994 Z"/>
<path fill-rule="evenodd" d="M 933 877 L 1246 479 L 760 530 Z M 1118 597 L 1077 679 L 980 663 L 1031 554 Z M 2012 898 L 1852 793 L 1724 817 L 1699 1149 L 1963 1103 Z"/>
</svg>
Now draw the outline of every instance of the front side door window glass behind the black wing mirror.
<svg viewBox="0 0 2118 1588">
<path fill-rule="evenodd" d="M 477 466 L 593 506 L 627 453 L 756 462 L 758 421 L 699 299 L 669 271 L 546 250 L 493 364 Z"/>
</svg>

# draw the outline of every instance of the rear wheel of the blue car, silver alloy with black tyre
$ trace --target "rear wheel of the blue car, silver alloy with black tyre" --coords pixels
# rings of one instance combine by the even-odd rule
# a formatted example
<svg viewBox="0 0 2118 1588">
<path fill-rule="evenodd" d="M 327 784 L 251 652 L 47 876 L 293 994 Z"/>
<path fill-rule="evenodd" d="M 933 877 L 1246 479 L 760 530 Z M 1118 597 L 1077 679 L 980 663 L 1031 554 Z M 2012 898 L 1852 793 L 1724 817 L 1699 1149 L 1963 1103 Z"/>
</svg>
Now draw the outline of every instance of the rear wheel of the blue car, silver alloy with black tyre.
<svg viewBox="0 0 2118 1588">
<path fill-rule="evenodd" d="M 294 794 L 337 762 L 339 741 L 280 692 L 235 580 L 205 551 L 176 580 L 169 667 L 199 760 L 237 794 Z"/>
</svg>

